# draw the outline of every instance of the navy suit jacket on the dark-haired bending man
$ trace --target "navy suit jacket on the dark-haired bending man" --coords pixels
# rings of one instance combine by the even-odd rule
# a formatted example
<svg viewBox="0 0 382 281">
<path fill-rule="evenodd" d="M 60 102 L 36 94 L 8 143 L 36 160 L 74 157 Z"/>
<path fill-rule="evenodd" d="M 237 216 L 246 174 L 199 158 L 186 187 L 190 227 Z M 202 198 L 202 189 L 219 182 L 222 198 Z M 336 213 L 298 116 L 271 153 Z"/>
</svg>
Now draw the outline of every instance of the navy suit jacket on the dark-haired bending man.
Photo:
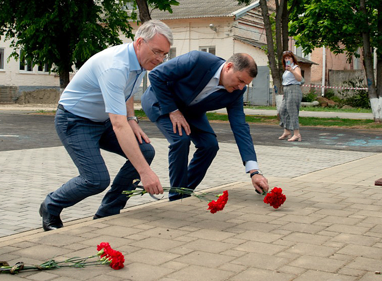
<svg viewBox="0 0 382 281">
<path fill-rule="evenodd" d="M 142 108 L 152 122 L 179 109 L 189 124 L 211 134 L 215 133 L 205 113 L 226 108 L 243 162 L 257 161 L 243 109 L 243 94 L 247 87 L 232 93 L 220 89 L 190 105 L 224 62 L 212 54 L 191 51 L 159 65 L 149 73 L 151 85 L 142 95 Z"/>
</svg>

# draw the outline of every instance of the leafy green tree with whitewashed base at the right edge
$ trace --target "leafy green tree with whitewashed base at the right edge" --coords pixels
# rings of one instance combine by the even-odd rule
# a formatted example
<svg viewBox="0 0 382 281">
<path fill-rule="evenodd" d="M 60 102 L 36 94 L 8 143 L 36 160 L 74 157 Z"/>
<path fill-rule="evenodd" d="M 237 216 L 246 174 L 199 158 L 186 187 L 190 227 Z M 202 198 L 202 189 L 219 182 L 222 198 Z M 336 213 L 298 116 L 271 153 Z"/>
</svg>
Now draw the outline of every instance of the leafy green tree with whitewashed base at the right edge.
<svg viewBox="0 0 382 281">
<path fill-rule="evenodd" d="M 362 48 L 369 97 L 382 98 L 381 0 L 304 0 L 303 10 L 290 19 L 289 33 L 304 53 L 325 46 L 335 54 L 345 53 L 350 61 L 353 55 L 360 57 L 358 50 Z M 377 50 L 377 81 L 372 48 Z M 375 120 L 381 122 L 381 106 L 372 109 Z"/>
</svg>

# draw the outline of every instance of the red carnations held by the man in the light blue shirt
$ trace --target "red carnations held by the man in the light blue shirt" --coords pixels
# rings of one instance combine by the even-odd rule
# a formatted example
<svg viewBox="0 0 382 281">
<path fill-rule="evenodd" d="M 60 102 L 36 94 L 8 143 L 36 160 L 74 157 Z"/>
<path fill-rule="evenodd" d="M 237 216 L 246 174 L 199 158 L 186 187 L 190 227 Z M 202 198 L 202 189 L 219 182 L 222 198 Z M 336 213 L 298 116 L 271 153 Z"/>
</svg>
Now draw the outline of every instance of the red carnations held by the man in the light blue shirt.
<svg viewBox="0 0 382 281">
<path fill-rule="evenodd" d="M 189 188 L 184 188 L 184 187 L 164 187 L 163 191 L 165 192 L 177 192 L 179 194 L 184 194 L 184 195 L 189 195 L 189 196 L 194 196 L 198 198 L 201 201 L 206 201 L 208 202 L 208 209 L 210 210 L 211 213 L 215 213 L 217 211 L 221 211 L 224 209 L 225 204 L 227 204 L 228 201 L 228 191 L 223 191 L 222 194 L 212 194 L 210 192 L 201 192 L 201 191 L 194 191 L 193 189 Z M 127 197 L 132 197 L 136 195 L 144 195 L 147 193 L 147 191 L 144 190 L 143 186 L 137 186 L 136 190 L 125 190 L 122 191 L 123 194 L 126 194 Z M 156 200 L 159 200 L 158 198 L 152 196 Z M 217 200 L 212 200 L 211 198 L 216 198 Z"/>
</svg>

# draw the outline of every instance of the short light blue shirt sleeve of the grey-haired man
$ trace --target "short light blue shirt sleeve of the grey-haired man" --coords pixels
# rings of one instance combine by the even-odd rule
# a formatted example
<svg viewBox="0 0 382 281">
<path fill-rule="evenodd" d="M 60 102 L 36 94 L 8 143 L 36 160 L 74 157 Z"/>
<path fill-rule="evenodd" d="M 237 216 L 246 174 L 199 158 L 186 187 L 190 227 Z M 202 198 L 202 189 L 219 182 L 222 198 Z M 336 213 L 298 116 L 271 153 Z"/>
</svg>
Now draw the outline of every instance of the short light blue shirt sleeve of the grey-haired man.
<svg viewBox="0 0 382 281">
<path fill-rule="evenodd" d="M 99 87 L 105 103 L 105 112 L 126 115 L 124 91 L 127 84 L 127 75 L 122 70 L 109 69 L 98 77 Z"/>
</svg>

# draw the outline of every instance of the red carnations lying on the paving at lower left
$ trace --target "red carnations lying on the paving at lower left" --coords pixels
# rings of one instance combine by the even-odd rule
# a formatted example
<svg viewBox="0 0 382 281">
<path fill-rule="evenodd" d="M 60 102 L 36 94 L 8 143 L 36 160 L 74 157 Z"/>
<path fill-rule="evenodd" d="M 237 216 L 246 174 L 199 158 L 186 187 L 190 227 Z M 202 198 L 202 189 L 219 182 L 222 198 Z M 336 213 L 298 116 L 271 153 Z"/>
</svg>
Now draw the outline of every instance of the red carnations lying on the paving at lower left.
<svg viewBox="0 0 382 281">
<path fill-rule="evenodd" d="M 123 268 L 123 263 L 125 259 L 121 252 L 113 250 L 109 243 L 102 242 L 97 245 L 97 251 L 93 256 L 86 258 L 70 258 L 62 262 L 56 262 L 53 259 L 50 259 L 47 262 L 44 262 L 40 265 L 25 265 L 23 262 L 18 262 L 14 266 L 9 266 L 7 262 L 0 262 L 0 274 L 17 274 L 20 271 L 27 270 L 52 270 L 63 267 L 75 267 L 83 268 L 86 266 L 96 266 L 108 264 L 112 269 L 118 270 Z"/>
</svg>

